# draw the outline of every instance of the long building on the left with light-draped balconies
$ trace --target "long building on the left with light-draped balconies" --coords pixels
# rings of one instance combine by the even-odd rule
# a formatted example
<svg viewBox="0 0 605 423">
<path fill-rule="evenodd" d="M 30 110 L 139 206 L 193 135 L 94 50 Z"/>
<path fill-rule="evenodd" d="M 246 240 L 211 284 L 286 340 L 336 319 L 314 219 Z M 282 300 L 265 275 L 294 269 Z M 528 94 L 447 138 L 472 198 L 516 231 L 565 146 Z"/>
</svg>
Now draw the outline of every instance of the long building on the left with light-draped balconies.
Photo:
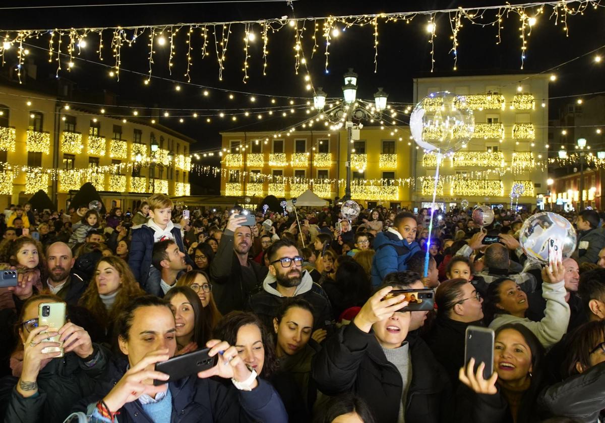
<svg viewBox="0 0 605 423">
<path fill-rule="evenodd" d="M 151 192 L 189 195 L 194 140 L 122 110 L 92 110 L 57 97 L 2 87 L 0 202 L 24 203 L 39 189 L 59 209 L 91 182 L 105 203 L 133 209 Z M 151 146 L 157 145 L 152 152 Z"/>
</svg>

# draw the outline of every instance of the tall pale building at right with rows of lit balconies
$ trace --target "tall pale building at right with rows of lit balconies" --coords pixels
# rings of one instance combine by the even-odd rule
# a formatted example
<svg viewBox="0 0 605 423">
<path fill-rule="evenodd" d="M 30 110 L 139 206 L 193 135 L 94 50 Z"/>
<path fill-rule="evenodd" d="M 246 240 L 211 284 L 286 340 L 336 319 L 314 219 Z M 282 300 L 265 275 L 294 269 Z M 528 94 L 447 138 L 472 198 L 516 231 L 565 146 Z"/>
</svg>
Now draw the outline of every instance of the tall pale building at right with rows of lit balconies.
<svg viewBox="0 0 605 423">
<path fill-rule="evenodd" d="M 461 96 L 473 111 L 475 131 L 464 148 L 443 160 L 440 206 L 543 206 L 548 194 L 548 75 L 494 75 L 414 79 L 414 103 L 439 91 Z M 461 105 L 462 107 L 462 105 Z M 432 202 L 436 156 L 414 148 L 413 199 Z M 518 198 L 517 198 L 518 195 Z"/>
</svg>

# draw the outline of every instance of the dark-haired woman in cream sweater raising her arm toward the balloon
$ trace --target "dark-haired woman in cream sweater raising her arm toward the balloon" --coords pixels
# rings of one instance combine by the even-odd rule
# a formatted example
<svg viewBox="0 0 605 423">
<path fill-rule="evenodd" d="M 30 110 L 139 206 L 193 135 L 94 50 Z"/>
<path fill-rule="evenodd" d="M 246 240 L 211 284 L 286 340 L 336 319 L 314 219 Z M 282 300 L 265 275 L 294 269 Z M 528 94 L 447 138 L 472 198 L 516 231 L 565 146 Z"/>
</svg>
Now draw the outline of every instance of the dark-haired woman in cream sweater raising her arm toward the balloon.
<svg viewBox="0 0 605 423">
<path fill-rule="evenodd" d="M 561 340 L 569 323 L 564 272 L 561 262 L 557 263 L 554 274 L 549 266 L 542 269 L 542 297 L 546 300 L 546 310 L 539 322 L 526 318 L 528 296 L 515 281 L 508 278 L 493 281 L 488 285 L 484 303 L 485 323 L 494 330 L 507 323 L 520 323 L 537 336 L 543 347 L 552 347 Z"/>
</svg>

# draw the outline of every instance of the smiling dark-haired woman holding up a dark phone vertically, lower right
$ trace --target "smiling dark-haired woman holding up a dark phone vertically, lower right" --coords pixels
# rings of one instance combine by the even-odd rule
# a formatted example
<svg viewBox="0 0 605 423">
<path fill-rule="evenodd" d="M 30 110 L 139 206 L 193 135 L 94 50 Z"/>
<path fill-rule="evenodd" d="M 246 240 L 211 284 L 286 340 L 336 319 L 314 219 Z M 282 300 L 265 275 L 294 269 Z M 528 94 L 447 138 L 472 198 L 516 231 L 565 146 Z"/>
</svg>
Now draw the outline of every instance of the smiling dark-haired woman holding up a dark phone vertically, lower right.
<svg viewBox="0 0 605 423">
<path fill-rule="evenodd" d="M 535 407 L 543 389 L 544 348 L 528 327 L 505 324 L 495 331 L 494 373 L 483 379 L 485 364 L 473 372 L 474 359 L 461 367 L 456 398 L 459 422 L 526 423 L 540 421 Z"/>
</svg>

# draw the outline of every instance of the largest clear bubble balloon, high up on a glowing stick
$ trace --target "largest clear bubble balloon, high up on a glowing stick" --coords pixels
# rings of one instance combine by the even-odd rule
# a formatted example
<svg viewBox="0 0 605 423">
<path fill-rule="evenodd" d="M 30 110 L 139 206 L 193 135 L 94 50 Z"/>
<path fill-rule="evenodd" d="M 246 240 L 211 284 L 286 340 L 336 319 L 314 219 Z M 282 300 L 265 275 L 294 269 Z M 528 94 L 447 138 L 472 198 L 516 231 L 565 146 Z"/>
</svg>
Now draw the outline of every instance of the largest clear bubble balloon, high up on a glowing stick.
<svg viewBox="0 0 605 423">
<path fill-rule="evenodd" d="M 475 130 L 475 117 L 465 97 L 448 91 L 432 93 L 414 108 L 410 132 L 426 152 L 451 154 L 467 143 Z"/>
</svg>

